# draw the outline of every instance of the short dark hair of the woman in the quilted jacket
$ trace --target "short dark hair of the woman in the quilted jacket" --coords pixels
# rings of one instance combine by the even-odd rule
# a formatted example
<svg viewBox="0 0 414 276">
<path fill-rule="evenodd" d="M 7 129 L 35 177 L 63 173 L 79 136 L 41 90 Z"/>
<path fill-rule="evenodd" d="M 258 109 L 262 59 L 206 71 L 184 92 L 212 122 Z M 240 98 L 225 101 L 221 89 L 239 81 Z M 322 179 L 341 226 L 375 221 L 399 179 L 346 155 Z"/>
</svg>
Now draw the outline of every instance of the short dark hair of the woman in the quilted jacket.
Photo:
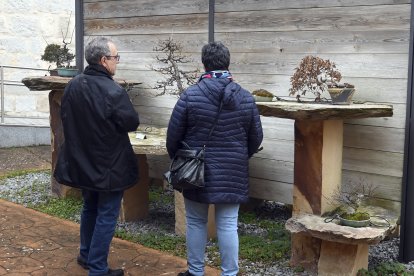
<svg viewBox="0 0 414 276">
<path fill-rule="evenodd" d="M 229 70 L 230 51 L 221 42 L 210 42 L 201 49 L 201 62 L 206 71 Z"/>
</svg>

